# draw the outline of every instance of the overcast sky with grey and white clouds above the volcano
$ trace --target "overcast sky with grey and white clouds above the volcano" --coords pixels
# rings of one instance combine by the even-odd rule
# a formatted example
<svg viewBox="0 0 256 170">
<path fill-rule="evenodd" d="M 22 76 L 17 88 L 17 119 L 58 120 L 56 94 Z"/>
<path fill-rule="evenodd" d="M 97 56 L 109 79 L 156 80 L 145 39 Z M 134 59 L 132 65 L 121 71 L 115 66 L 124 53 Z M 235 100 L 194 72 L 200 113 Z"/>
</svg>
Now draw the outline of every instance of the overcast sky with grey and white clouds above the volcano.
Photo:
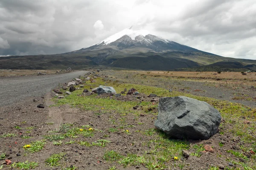
<svg viewBox="0 0 256 170">
<path fill-rule="evenodd" d="M 74 51 L 130 26 L 256 59 L 255 0 L 0 0 L 0 56 Z"/>
</svg>

